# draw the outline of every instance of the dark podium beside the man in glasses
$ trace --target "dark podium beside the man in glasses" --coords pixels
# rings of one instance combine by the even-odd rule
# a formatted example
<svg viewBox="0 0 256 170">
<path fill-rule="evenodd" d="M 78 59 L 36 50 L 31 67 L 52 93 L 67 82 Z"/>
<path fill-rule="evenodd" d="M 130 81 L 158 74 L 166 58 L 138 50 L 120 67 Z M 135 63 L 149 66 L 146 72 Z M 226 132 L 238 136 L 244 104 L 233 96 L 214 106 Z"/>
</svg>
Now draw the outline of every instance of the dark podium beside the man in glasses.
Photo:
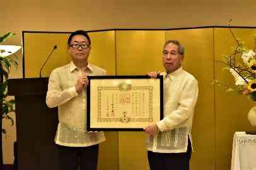
<svg viewBox="0 0 256 170">
<path fill-rule="evenodd" d="M 8 79 L 8 95 L 15 96 L 18 170 L 59 169 L 57 108 L 45 104 L 47 86 L 48 77 Z"/>
</svg>

